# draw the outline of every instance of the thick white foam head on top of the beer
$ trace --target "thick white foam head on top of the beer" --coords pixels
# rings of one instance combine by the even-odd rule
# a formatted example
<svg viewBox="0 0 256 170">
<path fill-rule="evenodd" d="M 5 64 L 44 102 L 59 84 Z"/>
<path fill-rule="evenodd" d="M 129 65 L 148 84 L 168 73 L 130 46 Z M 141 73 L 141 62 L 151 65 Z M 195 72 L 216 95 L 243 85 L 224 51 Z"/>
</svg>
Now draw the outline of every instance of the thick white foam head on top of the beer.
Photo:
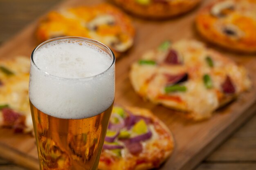
<svg viewBox="0 0 256 170">
<path fill-rule="evenodd" d="M 114 101 L 113 59 L 98 47 L 57 40 L 40 46 L 33 60 L 29 99 L 43 113 L 81 119 L 102 113 Z"/>
</svg>

